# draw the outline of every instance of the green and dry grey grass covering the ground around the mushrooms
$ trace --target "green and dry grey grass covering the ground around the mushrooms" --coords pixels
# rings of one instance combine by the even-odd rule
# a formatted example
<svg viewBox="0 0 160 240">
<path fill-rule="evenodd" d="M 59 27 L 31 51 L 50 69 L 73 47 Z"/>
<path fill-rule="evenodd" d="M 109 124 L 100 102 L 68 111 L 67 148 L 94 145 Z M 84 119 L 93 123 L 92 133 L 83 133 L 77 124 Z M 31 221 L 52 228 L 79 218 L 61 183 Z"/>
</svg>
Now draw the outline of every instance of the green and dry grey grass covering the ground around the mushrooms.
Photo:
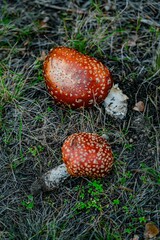
<svg viewBox="0 0 160 240">
<path fill-rule="evenodd" d="M 130 240 L 135 234 L 143 239 L 147 222 L 160 227 L 160 6 L 102 2 L 57 1 L 59 10 L 43 0 L 2 3 L 2 240 Z M 129 97 L 124 121 L 106 115 L 102 106 L 71 110 L 53 103 L 42 55 L 58 45 L 97 57 L 112 70 Z M 143 113 L 133 111 L 139 100 Z M 80 131 L 107 135 L 115 158 L 111 174 L 100 180 L 69 178 L 54 192 L 32 196 L 32 182 L 61 163 L 64 140 Z"/>
</svg>

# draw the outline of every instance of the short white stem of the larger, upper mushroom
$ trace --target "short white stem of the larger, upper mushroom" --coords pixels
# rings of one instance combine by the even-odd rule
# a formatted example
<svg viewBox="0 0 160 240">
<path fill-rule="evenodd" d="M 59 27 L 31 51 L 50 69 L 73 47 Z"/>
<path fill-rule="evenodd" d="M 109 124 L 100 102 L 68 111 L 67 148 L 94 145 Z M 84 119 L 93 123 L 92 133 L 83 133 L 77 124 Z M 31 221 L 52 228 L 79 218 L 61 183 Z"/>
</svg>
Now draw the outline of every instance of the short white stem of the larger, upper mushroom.
<svg viewBox="0 0 160 240">
<path fill-rule="evenodd" d="M 124 119 L 127 114 L 127 100 L 128 97 L 118 87 L 118 84 L 113 85 L 103 102 L 106 113 L 117 119 Z"/>
</svg>

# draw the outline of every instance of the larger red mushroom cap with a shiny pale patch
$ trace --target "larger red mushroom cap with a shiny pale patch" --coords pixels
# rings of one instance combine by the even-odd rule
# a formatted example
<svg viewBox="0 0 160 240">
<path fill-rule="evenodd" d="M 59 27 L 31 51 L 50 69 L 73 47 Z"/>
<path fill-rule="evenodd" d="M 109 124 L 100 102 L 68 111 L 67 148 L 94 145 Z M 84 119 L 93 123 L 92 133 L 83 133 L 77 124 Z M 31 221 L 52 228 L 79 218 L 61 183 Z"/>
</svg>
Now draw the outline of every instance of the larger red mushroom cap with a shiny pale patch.
<svg viewBox="0 0 160 240">
<path fill-rule="evenodd" d="M 43 71 L 55 102 L 71 108 L 102 102 L 113 85 L 110 71 L 100 61 L 68 47 L 52 49 Z"/>
</svg>

